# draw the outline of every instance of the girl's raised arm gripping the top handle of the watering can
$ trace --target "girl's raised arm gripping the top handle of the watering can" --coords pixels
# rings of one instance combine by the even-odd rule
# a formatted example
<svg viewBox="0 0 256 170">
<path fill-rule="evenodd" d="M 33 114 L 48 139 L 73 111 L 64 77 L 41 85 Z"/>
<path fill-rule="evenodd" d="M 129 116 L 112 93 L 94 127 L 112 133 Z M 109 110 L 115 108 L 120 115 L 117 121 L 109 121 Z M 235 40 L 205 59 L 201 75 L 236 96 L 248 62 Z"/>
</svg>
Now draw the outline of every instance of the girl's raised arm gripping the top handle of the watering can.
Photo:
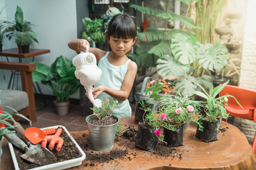
<svg viewBox="0 0 256 170">
<path fill-rule="evenodd" d="M 97 63 L 100 61 L 101 57 L 106 55 L 104 50 L 98 48 L 90 48 L 90 43 L 85 39 L 75 39 L 68 42 L 68 47 L 76 52 L 85 52 L 85 45 L 89 46 L 89 52 L 96 56 Z"/>
</svg>

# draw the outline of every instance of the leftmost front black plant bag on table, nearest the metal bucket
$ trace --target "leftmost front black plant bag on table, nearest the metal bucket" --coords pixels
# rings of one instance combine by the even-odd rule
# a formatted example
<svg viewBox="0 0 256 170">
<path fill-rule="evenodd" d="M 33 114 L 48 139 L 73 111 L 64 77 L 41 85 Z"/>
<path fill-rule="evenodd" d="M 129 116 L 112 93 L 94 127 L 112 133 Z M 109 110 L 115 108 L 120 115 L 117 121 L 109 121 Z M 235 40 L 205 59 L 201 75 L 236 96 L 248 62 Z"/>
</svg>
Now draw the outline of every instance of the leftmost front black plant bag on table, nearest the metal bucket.
<svg viewBox="0 0 256 170">
<path fill-rule="evenodd" d="M 155 135 L 155 129 L 146 129 L 141 126 L 143 123 L 139 123 L 138 133 L 135 142 L 135 146 L 142 148 L 146 151 L 152 151 L 158 146 L 158 137 Z"/>
</svg>

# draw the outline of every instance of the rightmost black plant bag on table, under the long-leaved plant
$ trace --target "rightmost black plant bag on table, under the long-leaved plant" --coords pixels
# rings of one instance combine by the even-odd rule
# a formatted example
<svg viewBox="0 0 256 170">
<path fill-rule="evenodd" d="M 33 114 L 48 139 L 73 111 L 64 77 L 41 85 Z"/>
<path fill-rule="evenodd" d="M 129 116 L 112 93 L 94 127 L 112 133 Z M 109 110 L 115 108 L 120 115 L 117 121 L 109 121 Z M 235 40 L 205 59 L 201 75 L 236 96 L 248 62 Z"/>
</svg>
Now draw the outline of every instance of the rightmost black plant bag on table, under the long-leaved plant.
<svg viewBox="0 0 256 170">
<path fill-rule="evenodd" d="M 202 126 L 204 127 L 203 131 L 199 131 L 199 125 L 197 125 L 196 129 L 196 137 L 201 139 L 204 142 L 217 141 L 218 140 L 218 121 L 209 122 L 204 121 Z"/>
</svg>

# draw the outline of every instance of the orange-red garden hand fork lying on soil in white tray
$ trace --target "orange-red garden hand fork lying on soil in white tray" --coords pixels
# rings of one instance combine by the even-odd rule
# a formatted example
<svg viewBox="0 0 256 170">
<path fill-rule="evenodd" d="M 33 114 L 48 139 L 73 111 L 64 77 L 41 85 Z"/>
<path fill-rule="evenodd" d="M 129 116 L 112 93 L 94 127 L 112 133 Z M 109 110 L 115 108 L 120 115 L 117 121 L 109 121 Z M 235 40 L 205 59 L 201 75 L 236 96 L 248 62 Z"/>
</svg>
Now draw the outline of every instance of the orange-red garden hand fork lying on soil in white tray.
<svg viewBox="0 0 256 170">
<path fill-rule="evenodd" d="M 55 144 L 57 143 L 56 151 L 60 151 L 62 145 L 63 145 L 63 138 L 60 137 L 60 134 L 62 132 L 62 129 L 59 128 L 57 132 L 54 135 L 47 135 L 44 137 L 43 142 L 42 142 L 42 147 L 46 147 L 47 142 L 49 141 L 49 150 L 52 151 Z"/>
</svg>

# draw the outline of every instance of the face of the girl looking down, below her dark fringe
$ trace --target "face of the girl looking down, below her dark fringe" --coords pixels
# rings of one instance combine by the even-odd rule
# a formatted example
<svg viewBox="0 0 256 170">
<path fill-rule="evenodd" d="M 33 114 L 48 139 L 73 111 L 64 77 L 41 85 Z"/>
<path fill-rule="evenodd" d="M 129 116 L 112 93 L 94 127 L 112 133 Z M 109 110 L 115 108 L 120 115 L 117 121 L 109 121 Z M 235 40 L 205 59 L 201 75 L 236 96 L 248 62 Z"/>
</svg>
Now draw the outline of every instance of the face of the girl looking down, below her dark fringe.
<svg viewBox="0 0 256 170">
<path fill-rule="evenodd" d="M 134 44 L 136 40 L 137 40 L 137 37 L 135 37 L 135 39 L 130 39 L 130 38 L 118 39 L 115 36 L 110 36 L 109 43 L 110 43 L 111 49 L 115 54 L 117 54 L 117 56 L 123 56 L 127 52 L 129 52 L 129 50 L 131 49 L 131 46 Z"/>
</svg>

